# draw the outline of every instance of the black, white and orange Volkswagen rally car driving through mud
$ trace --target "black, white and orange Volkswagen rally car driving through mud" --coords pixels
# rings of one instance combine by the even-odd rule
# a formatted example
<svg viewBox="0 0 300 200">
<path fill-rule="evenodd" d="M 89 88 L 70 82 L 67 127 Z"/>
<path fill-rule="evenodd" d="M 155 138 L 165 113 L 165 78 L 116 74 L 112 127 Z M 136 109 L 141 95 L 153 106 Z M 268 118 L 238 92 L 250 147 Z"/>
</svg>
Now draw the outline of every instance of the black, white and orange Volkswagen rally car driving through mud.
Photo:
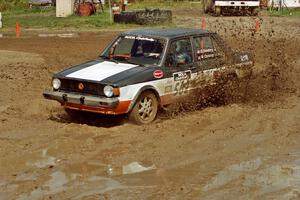
<svg viewBox="0 0 300 200">
<path fill-rule="evenodd" d="M 134 30 L 120 34 L 95 60 L 54 74 L 43 95 L 66 110 L 128 114 L 146 124 L 159 107 L 220 76 L 248 76 L 252 66 L 249 53 L 231 50 L 207 30 Z"/>
</svg>

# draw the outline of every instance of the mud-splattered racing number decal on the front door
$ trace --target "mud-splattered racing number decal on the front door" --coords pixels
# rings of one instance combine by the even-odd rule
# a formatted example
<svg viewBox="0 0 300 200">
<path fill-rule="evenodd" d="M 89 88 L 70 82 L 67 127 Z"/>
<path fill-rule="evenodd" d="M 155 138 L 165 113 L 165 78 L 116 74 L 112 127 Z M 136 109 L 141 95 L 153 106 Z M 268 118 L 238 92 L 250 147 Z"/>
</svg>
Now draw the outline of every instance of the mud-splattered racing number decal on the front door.
<svg viewBox="0 0 300 200">
<path fill-rule="evenodd" d="M 173 73 L 174 77 L 174 95 L 183 95 L 188 92 L 191 70 Z"/>
</svg>

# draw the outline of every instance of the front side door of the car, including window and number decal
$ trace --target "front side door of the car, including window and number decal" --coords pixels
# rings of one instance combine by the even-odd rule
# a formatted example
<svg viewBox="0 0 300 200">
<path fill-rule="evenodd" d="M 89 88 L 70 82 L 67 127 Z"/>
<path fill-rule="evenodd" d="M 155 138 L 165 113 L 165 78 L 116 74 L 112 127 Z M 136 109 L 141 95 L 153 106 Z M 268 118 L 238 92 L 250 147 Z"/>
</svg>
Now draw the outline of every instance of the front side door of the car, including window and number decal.
<svg viewBox="0 0 300 200">
<path fill-rule="evenodd" d="M 191 38 L 170 41 L 164 65 L 164 73 L 171 77 L 165 86 L 168 91 L 175 97 L 187 94 L 195 72 Z"/>
</svg>

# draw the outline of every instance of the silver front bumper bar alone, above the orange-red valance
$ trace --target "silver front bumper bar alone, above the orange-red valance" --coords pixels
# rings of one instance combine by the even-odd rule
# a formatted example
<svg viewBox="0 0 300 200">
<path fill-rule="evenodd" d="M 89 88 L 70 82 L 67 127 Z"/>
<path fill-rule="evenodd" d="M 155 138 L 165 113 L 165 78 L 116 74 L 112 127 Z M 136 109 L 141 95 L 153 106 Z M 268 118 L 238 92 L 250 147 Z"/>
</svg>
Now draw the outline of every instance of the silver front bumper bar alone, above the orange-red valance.
<svg viewBox="0 0 300 200">
<path fill-rule="evenodd" d="M 56 100 L 62 105 L 77 104 L 96 108 L 116 108 L 119 104 L 119 99 L 116 97 L 105 98 L 53 90 L 44 91 L 43 96 L 46 99 Z"/>
</svg>

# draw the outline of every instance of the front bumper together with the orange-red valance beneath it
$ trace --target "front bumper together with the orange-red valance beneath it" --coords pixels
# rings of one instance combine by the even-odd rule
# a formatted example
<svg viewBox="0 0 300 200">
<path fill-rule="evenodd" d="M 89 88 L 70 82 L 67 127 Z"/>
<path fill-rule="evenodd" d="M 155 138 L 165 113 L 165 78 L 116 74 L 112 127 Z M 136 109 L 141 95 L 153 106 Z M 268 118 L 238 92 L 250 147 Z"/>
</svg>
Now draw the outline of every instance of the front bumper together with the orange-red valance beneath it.
<svg viewBox="0 0 300 200">
<path fill-rule="evenodd" d="M 102 114 L 126 113 L 131 102 L 119 101 L 117 97 L 105 98 L 53 90 L 44 91 L 43 96 L 60 102 L 65 108 Z"/>
</svg>

